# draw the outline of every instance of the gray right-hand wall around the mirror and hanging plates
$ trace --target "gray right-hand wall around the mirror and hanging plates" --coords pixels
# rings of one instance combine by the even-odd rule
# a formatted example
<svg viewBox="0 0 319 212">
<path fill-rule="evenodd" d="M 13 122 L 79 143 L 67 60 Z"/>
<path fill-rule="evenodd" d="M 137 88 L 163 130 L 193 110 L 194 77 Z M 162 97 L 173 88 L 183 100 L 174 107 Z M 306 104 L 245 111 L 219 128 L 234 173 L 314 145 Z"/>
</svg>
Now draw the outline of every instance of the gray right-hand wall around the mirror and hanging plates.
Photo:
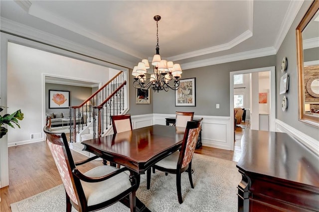
<svg viewBox="0 0 319 212">
<path fill-rule="evenodd" d="M 303 18 L 304 14 L 308 10 L 312 1 L 305 1 L 301 9 L 299 10 L 294 23 L 292 24 L 289 32 L 287 33 L 284 42 L 282 43 L 281 47 L 279 48 L 277 55 L 276 55 L 276 64 L 277 67 L 281 67 L 281 61 L 283 57 L 287 57 L 288 59 L 288 67 L 287 73 L 289 76 L 289 91 L 285 95 L 288 99 L 288 108 L 286 111 L 282 111 L 281 109 L 281 102 L 284 95 L 279 95 L 278 88 L 280 87 L 280 78 L 282 77 L 281 71 L 277 70 L 276 72 L 276 114 L 277 118 L 281 121 L 289 124 L 290 126 L 294 127 L 302 131 L 303 133 L 319 140 L 319 130 L 317 127 L 313 125 L 306 124 L 302 121 L 298 120 L 298 72 L 297 72 L 297 45 L 296 45 L 296 28 Z M 310 52 L 310 51 L 309 51 Z M 318 54 L 318 52 L 317 52 Z M 309 59 L 309 57 L 308 57 Z"/>
</svg>

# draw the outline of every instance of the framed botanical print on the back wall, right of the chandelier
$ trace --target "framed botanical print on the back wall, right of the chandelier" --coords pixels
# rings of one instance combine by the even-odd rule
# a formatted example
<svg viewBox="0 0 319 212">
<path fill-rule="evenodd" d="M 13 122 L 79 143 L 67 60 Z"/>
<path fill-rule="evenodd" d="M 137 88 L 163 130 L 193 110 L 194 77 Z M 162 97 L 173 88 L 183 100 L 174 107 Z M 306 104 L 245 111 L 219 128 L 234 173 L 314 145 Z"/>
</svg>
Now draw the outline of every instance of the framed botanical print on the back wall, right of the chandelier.
<svg viewBox="0 0 319 212">
<path fill-rule="evenodd" d="M 179 80 L 175 91 L 175 106 L 196 106 L 195 78 Z"/>
</svg>

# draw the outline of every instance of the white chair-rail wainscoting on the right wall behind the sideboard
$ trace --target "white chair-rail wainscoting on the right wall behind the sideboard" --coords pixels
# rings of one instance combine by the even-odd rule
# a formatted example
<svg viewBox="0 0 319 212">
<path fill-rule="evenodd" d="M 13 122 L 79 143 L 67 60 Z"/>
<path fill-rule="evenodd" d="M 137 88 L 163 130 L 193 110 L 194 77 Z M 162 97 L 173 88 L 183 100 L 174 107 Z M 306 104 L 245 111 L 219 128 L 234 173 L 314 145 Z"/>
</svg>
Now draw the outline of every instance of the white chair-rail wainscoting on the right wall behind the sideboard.
<svg viewBox="0 0 319 212">
<path fill-rule="evenodd" d="M 277 132 L 286 132 L 292 137 L 296 138 L 300 143 L 305 145 L 308 149 L 313 151 L 315 154 L 319 155 L 319 141 L 305 133 L 295 129 L 294 127 L 288 125 L 287 123 L 276 119 L 276 131 Z"/>
</svg>

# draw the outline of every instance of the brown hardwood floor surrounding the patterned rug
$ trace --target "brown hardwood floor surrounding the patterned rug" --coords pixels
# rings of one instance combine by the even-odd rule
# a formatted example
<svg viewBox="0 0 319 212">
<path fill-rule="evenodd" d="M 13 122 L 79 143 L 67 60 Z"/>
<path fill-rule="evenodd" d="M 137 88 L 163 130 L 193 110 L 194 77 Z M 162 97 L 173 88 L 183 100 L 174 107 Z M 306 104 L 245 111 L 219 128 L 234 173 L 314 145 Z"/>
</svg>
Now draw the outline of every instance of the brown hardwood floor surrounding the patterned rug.
<svg viewBox="0 0 319 212">
<path fill-rule="evenodd" d="M 243 125 L 247 126 L 247 123 L 243 123 Z M 195 152 L 237 162 L 241 155 L 240 139 L 243 131 L 241 127 L 236 127 L 234 151 L 203 146 Z M 72 151 L 72 154 L 75 161 L 86 158 L 74 151 Z M 11 203 L 21 201 L 62 184 L 46 142 L 9 147 L 8 157 L 9 186 L 0 189 L 1 212 L 10 212 Z M 101 164 L 101 161 L 92 161 L 78 168 L 80 171 L 85 172 Z"/>
</svg>

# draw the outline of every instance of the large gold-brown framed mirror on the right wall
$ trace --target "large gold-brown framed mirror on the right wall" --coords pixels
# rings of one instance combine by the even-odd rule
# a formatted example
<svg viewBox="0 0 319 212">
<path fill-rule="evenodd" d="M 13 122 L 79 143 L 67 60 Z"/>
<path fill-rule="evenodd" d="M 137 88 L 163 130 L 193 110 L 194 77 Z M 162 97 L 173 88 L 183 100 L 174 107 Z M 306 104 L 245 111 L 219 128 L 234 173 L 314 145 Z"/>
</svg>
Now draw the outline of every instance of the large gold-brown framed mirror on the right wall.
<svg viewBox="0 0 319 212">
<path fill-rule="evenodd" d="M 319 0 L 296 29 L 299 120 L 319 127 Z"/>
</svg>

